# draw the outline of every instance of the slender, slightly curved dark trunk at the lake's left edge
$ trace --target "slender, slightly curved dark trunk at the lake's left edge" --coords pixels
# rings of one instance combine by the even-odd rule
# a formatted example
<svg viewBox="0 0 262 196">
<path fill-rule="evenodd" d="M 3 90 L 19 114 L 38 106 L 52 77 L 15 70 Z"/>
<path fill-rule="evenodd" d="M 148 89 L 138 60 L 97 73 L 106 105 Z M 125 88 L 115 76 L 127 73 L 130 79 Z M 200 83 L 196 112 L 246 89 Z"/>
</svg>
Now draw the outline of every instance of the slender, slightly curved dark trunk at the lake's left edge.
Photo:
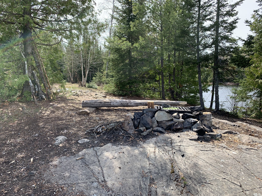
<svg viewBox="0 0 262 196">
<path fill-rule="evenodd" d="M 201 10 L 201 0 L 198 0 L 198 16 L 197 16 L 197 72 L 198 72 L 198 86 L 199 86 L 199 99 L 200 105 L 205 109 L 204 100 L 203 100 L 203 91 L 202 91 L 202 81 L 201 81 L 201 63 L 200 63 L 200 49 L 199 49 L 199 26 L 200 26 L 200 10 Z"/>
</svg>

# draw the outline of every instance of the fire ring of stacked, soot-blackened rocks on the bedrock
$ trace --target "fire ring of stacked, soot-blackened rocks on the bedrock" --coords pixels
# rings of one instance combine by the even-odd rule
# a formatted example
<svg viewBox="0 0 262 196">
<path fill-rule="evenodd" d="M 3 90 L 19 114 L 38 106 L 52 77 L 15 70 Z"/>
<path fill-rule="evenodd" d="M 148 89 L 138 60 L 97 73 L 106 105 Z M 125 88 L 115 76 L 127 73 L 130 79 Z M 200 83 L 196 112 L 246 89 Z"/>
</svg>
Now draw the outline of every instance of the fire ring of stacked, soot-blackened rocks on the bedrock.
<svg viewBox="0 0 262 196">
<path fill-rule="evenodd" d="M 213 132 L 211 113 L 201 112 L 201 106 L 187 107 L 184 112 L 176 111 L 178 108 L 172 109 L 167 104 L 157 108 L 159 109 L 148 108 L 142 112 L 134 112 L 134 116 L 126 114 L 122 129 L 130 134 L 140 133 L 142 136 L 150 132 L 191 132 L 197 135 L 198 140 L 204 141 L 222 137 L 221 134 Z"/>
</svg>

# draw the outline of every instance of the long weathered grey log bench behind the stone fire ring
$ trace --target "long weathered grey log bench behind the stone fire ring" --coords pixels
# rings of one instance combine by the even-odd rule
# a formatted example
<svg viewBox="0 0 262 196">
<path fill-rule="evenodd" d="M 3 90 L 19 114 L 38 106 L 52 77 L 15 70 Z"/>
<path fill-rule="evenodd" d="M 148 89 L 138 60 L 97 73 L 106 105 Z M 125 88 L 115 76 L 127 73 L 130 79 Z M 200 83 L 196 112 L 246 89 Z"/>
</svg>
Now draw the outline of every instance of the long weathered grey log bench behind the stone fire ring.
<svg viewBox="0 0 262 196">
<path fill-rule="evenodd" d="M 82 107 L 135 107 L 147 106 L 148 102 L 154 102 L 154 105 L 162 105 L 163 103 L 169 105 L 186 105 L 186 101 L 159 101 L 159 100 L 123 100 L 123 99 L 101 99 L 88 100 L 82 102 Z"/>
</svg>

